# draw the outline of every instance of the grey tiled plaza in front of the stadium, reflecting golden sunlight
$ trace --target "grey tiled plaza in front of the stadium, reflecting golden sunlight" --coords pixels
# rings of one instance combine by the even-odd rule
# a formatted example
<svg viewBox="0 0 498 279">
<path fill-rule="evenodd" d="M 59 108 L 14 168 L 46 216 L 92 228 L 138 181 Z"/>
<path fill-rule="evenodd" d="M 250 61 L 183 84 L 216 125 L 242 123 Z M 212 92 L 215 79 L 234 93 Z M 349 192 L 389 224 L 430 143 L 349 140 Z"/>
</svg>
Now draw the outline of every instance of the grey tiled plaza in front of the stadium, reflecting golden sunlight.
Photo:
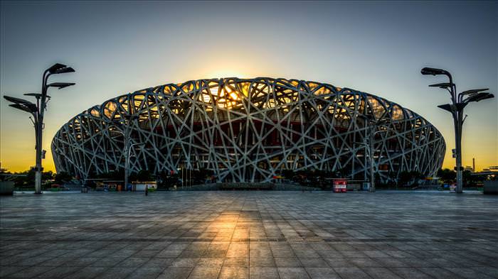
<svg viewBox="0 0 498 279">
<path fill-rule="evenodd" d="M 1 197 L 1 278 L 498 278 L 498 197 L 448 192 Z"/>
</svg>

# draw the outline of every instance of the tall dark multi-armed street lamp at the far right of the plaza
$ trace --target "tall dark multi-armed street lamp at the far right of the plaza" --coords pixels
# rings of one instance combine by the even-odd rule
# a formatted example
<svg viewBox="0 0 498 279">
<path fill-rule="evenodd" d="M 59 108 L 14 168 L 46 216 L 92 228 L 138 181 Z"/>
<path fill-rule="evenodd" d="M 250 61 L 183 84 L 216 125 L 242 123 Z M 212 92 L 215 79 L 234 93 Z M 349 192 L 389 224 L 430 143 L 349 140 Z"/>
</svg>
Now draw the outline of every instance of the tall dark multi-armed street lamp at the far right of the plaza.
<svg viewBox="0 0 498 279">
<path fill-rule="evenodd" d="M 450 72 L 442 69 L 425 67 L 421 71 L 422 75 L 445 75 L 450 80 L 449 83 L 431 84 L 429 87 L 439 87 L 447 89 L 451 94 L 451 104 L 442 104 L 438 106 L 440 109 L 449 111 L 453 116 L 453 126 L 455 126 L 455 150 L 453 158 L 456 158 L 457 164 L 457 189 L 455 192 L 462 193 L 462 128 L 465 121 L 463 109 L 470 102 L 480 102 L 484 99 L 491 99 L 493 94 L 486 91 L 486 89 L 472 89 L 457 94 L 457 86 L 453 83 Z"/>
</svg>

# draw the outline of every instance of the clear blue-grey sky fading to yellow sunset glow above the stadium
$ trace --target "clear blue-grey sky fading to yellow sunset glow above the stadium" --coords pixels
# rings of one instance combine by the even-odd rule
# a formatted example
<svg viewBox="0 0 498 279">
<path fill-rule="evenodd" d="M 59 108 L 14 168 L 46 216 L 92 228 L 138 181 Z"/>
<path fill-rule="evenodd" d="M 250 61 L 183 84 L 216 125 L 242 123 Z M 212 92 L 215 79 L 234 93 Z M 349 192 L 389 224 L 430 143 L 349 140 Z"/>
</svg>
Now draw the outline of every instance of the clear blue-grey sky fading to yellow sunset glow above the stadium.
<svg viewBox="0 0 498 279">
<path fill-rule="evenodd" d="M 1 1 L 0 94 L 40 92 L 55 62 L 76 72 L 53 81 L 45 116 L 45 170 L 51 140 L 76 114 L 118 94 L 159 84 L 220 77 L 284 77 L 376 94 L 415 111 L 443 133 L 452 168 L 452 118 L 437 105 L 450 94 L 428 84 L 452 73 L 459 92 L 498 95 L 496 1 Z M 34 165 L 28 115 L 0 100 L 0 162 Z M 497 99 L 472 103 L 463 165 L 498 165 Z"/>
</svg>

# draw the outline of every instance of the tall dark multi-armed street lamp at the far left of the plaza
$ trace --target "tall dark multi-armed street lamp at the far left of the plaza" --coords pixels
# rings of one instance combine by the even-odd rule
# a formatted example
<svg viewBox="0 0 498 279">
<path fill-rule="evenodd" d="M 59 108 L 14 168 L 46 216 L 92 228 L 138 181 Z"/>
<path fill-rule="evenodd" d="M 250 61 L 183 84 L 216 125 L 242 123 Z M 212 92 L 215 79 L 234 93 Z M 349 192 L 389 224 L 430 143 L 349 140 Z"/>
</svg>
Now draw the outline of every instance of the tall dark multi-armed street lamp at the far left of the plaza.
<svg viewBox="0 0 498 279">
<path fill-rule="evenodd" d="M 15 109 L 21 109 L 26 111 L 33 116 L 33 125 L 35 127 L 35 139 L 36 139 L 36 166 L 35 166 L 35 194 L 41 194 L 41 160 L 45 158 L 45 151 L 42 150 L 42 136 L 43 136 L 43 115 L 47 109 L 47 96 L 48 87 L 57 87 L 58 89 L 63 89 L 74 85 L 75 83 L 69 82 L 53 82 L 47 84 L 48 77 L 51 75 L 63 74 L 66 72 L 75 72 L 72 67 L 68 67 L 63 64 L 56 63 L 49 67 L 45 72 L 43 72 L 42 82 L 41 82 L 41 94 L 40 93 L 28 93 L 26 96 L 32 96 L 36 98 L 36 104 L 33 104 L 25 99 L 19 99 L 16 97 L 4 96 L 4 98 L 14 104 L 9 104 L 9 106 Z"/>
</svg>

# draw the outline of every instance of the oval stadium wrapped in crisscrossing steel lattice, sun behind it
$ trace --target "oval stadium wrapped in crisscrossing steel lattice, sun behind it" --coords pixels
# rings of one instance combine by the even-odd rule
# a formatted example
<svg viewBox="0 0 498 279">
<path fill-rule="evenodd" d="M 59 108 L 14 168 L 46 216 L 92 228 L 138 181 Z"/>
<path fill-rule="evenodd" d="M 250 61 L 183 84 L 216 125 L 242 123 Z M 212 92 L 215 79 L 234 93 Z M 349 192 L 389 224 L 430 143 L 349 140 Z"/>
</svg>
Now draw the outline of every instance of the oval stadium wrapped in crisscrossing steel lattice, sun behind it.
<svg viewBox="0 0 498 279">
<path fill-rule="evenodd" d="M 284 170 L 367 180 L 372 158 L 374 172 L 388 181 L 403 171 L 435 175 L 445 141 L 422 116 L 372 94 L 235 77 L 109 99 L 63 125 L 52 152 L 58 172 L 80 177 L 128 163 L 130 173 L 206 169 L 218 182 L 268 182 Z"/>
</svg>

